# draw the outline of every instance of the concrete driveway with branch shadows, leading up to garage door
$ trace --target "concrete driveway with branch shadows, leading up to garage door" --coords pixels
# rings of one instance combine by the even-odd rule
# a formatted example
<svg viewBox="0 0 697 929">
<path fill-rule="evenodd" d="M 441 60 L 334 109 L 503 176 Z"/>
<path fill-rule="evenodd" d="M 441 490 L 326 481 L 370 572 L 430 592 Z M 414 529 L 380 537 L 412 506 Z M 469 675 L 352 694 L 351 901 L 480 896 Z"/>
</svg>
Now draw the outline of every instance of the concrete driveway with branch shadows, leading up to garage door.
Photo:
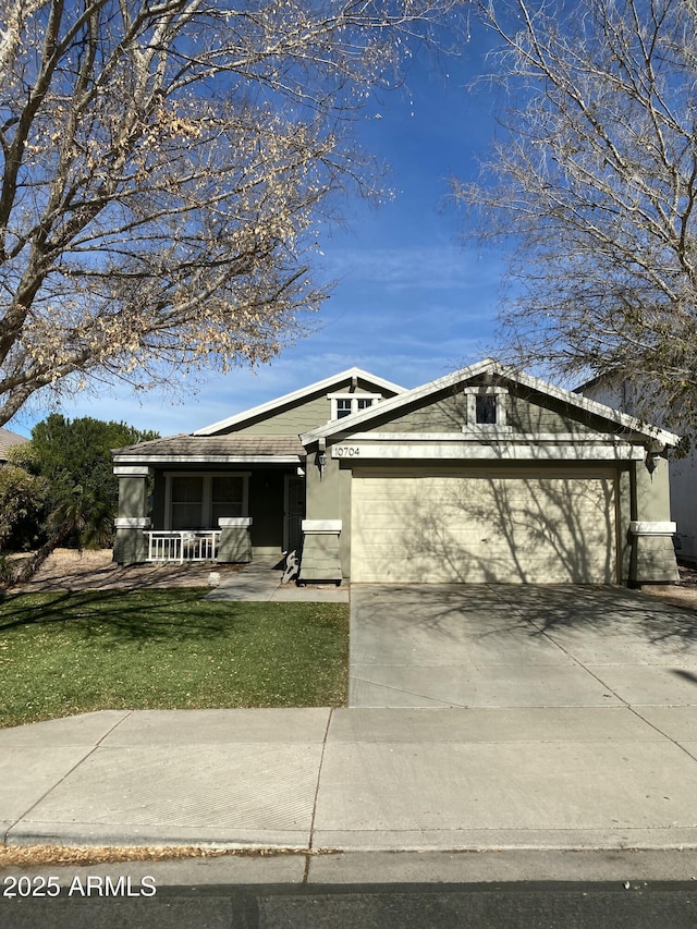
<svg viewBox="0 0 697 929">
<path fill-rule="evenodd" d="M 632 706 L 660 726 L 697 706 L 697 615 L 637 591 L 355 584 L 351 601 L 351 707 Z"/>
</svg>

